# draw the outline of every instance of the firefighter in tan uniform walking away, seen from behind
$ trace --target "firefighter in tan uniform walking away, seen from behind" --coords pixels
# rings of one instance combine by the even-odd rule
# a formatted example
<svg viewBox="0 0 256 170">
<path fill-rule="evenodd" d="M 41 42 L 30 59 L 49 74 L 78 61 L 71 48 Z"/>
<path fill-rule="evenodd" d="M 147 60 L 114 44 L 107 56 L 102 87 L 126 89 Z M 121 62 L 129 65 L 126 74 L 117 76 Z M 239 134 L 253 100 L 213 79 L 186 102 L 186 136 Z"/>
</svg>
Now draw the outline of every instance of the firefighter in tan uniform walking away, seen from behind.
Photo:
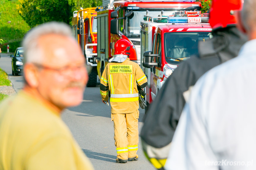
<svg viewBox="0 0 256 170">
<path fill-rule="evenodd" d="M 139 158 L 136 154 L 139 143 L 138 109 L 141 97 L 138 88 L 146 87 L 147 77 L 139 64 L 130 61 L 129 55 L 135 53 L 135 48 L 129 41 L 119 39 L 115 43 L 115 56 L 106 65 L 100 83 L 102 102 L 106 104 L 110 96 L 117 163 L 136 161 Z"/>
</svg>

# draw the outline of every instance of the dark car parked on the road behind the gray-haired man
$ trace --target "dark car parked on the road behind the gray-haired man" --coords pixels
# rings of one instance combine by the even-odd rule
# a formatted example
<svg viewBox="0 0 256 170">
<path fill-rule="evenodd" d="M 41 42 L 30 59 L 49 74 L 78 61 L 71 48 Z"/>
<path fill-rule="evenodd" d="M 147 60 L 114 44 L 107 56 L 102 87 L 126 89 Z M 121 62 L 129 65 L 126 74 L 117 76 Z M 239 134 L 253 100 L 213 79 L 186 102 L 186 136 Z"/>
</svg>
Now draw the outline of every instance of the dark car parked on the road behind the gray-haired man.
<svg viewBox="0 0 256 170">
<path fill-rule="evenodd" d="M 12 57 L 12 75 L 18 76 L 23 72 L 23 48 L 18 47 Z"/>
</svg>

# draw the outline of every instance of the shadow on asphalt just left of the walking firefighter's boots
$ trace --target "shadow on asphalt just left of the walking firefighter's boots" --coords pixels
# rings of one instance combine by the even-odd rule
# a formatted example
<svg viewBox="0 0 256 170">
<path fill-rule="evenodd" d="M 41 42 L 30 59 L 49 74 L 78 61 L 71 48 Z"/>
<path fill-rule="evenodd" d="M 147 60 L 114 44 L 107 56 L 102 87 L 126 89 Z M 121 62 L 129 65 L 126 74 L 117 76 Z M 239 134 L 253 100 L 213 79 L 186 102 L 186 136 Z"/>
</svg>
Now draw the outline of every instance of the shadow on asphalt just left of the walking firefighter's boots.
<svg viewBox="0 0 256 170">
<path fill-rule="evenodd" d="M 115 162 L 116 156 L 104 153 L 92 152 L 90 150 L 82 149 L 88 158 L 98 159 L 101 161 Z"/>
</svg>

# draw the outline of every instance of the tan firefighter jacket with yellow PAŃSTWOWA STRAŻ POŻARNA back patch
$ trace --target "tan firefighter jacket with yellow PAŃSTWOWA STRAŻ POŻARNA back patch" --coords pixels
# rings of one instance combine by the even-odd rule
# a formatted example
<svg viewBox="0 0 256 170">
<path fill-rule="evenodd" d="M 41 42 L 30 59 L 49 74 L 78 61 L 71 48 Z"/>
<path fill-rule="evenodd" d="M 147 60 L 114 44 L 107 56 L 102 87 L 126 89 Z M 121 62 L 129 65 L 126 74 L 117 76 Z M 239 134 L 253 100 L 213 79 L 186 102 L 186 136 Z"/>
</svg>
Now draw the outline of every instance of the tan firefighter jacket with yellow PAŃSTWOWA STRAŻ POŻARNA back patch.
<svg viewBox="0 0 256 170">
<path fill-rule="evenodd" d="M 108 63 L 100 84 L 101 98 L 107 101 L 110 93 L 111 113 L 132 113 L 139 109 L 137 84 L 144 88 L 147 77 L 139 64 L 128 58 L 122 63 Z"/>
</svg>

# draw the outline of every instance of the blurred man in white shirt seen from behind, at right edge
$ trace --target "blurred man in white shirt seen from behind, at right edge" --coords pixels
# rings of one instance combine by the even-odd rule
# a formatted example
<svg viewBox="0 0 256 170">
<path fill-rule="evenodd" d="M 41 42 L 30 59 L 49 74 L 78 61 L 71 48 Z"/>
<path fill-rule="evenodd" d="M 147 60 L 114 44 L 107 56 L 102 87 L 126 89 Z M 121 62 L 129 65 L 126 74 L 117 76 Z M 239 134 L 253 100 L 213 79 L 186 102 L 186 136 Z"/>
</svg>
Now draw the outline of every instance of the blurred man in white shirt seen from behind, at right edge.
<svg viewBox="0 0 256 170">
<path fill-rule="evenodd" d="M 256 169 L 255 11 L 256 0 L 244 0 L 241 27 L 249 41 L 236 58 L 211 69 L 195 84 L 165 169 Z"/>
</svg>

